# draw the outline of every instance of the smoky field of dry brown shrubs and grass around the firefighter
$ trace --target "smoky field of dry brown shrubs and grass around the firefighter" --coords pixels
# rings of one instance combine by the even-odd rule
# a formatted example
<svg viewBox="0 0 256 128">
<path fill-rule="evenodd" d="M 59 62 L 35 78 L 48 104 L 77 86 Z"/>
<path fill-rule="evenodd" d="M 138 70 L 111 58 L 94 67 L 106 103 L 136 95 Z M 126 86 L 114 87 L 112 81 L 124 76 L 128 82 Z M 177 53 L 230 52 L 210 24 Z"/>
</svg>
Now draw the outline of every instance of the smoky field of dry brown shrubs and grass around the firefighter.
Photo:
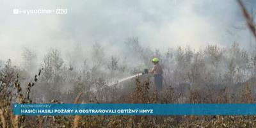
<svg viewBox="0 0 256 128">
<path fill-rule="evenodd" d="M 41 67 L 31 75 L 33 52 L 24 52 L 26 65 L 19 68 L 8 60 L 1 65 L 2 127 L 255 127 L 254 116 L 13 116 L 17 103 L 255 103 L 255 56 L 234 43 L 230 47 L 209 45 L 203 51 L 179 47 L 160 54 L 136 46 L 144 63 L 128 67 L 104 56 L 100 45 L 92 66 L 67 65 L 58 49 L 49 51 Z M 137 49 L 140 49 L 138 52 Z M 28 49 L 27 49 L 28 50 Z M 97 58 L 97 56 L 99 56 Z M 164 88 L 157 93 L 152 76 L 113 84 L 116 77 L 138 74 L 152 67 L 149 58 L 159 56 L 164 70 Z M 125 72 L 125 73 L 124 73 Z M 114 80 L 113 80 L 114 79 Z M 112 86 L 109 86 L 109 83 Z M 90 123 L 89 123 L 90 122 Z"/>
</svg>

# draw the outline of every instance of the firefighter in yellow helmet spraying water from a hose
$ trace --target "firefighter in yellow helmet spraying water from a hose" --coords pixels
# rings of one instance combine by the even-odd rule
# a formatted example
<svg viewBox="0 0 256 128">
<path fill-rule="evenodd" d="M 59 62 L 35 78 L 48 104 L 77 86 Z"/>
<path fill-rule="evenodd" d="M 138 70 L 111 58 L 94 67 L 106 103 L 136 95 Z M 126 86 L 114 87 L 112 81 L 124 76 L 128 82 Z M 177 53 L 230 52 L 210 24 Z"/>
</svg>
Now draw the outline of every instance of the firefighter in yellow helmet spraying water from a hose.
<svg viewBox="0 0 256 128">
<path fill-rule="evenodd" d="M 163 69 L 159 65 L 159 59 L 153 58 L 152 63 L 154 63 L 154 67 L 149 72 L 154 74 L 154 83 L 156 85 L 157 91 L 161 91 L 163 88 Z"/>
</svg>

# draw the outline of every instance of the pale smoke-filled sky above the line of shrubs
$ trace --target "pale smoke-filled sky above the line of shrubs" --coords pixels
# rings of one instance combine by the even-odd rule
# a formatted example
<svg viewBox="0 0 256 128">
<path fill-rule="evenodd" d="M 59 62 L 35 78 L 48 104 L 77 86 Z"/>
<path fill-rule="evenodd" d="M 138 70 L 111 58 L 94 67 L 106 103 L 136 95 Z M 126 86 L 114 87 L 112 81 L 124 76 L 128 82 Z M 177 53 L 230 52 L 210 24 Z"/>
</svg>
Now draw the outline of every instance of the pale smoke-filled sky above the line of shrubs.
<svg viewBox="0 0 256 128">
<path fill-rule="evenodd" d="M 244 2 L 250 10 L 255 5 Z M 4 61 L 20 62 L 24 47 L 38 56 L 51 47 L 65 55 L 77 43 L 90 51 L 98 42 L 122 52 L 122 44 L 133 36 L 152 50 L 186 45 L 200 49 L 234 41 L 244 49 L 250 47 L 248 29 L 234 0 L 1 0 L 0 7 L 0 60 Z M 67 14 L 13 14 L 13 9 L 58 8 L 67 9 Z"/>
</svg>

